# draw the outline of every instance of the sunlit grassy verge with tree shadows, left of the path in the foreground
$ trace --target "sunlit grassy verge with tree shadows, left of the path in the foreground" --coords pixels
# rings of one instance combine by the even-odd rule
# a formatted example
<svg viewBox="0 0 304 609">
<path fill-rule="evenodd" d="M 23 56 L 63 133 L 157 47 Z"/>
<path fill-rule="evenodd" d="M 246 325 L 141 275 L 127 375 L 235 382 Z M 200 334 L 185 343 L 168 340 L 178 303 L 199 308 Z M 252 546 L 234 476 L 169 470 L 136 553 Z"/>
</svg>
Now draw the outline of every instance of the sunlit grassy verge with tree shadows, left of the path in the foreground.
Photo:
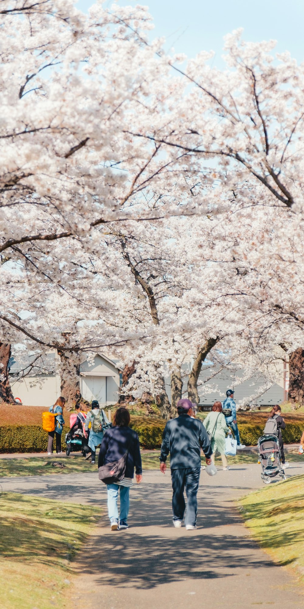
<svg viewBox="0 0 304 609">
<path fill-rule="evenodd" d="M 71 560 L 98 509 L 5 493 L 0 496 L 2 609 L 59 609 L 61 593 L 72 587 Z"/>
</svg>

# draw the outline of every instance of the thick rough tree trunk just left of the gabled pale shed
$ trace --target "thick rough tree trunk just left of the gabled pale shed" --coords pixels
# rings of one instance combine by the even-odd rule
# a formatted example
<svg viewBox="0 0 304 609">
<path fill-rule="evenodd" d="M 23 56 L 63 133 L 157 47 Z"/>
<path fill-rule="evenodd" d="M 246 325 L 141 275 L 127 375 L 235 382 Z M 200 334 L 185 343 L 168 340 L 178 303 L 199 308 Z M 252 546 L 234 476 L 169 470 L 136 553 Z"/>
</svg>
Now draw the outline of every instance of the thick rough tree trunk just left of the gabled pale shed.
<svg viewBox="0 0 304 609">
<path fill-rule="evenodd" d="M 66 409 L 72 410 L 75 404 L 81 400 L 80 357 L 72 351 L 58 349 L 57 352 L 61 360 L 60 392 L 66 400 Z"/>
</svg>

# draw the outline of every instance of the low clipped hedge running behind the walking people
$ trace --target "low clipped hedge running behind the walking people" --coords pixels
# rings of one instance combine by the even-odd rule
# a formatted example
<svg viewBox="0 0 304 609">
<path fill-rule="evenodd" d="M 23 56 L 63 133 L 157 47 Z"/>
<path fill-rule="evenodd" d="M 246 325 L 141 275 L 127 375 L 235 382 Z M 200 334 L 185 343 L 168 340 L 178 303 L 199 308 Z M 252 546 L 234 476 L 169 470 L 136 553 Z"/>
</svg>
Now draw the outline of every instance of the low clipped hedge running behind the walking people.
<svg viewBox="0 0 304 609">
<path fill-rule="evenodd" d="M 143 448 L 160 448 L 162 443 L 162 432 L 165 421 L 142 420 L 133 417 L 131 427 L 139 435 L 140 446 Z M 263 435 L 264 424 L 252 425 L 241 423 L 239 426 L 241 442 L 246 446 L 255 446 L 258 438 Z M 65 451 L 65 434 L 68 427 L 63 429 L 62 448 Z M 288 423 L 283 431 L 283 440 L 286 444 L 300 442 L 303 424 Z M 0 428 L 0 452 L 46 452 L 47 432 L 40 425 L 7 425 Z"/>
</svg>

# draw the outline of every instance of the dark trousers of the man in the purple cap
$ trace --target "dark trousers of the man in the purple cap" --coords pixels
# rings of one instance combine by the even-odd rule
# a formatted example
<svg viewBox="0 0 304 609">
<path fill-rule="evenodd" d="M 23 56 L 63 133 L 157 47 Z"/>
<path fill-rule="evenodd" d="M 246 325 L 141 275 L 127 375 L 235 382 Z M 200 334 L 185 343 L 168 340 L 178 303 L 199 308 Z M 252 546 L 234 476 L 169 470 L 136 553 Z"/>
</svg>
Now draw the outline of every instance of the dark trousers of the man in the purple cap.
<svg viewBox="0 0 304 609">
<path fill-rule="evenodd" d="M 173 520 L 182 520 L 184 518 L 186 507 L 184 490 L 186 490 L 187 513 L 185 517 L 185 524 L 196 524 L 196 515 L 198 513 L 197 495 L 200 473 L 200 467 L 195 470 L 190 467 L 183 470 L 171 470 L 173 488 Z"/>
</svg>

